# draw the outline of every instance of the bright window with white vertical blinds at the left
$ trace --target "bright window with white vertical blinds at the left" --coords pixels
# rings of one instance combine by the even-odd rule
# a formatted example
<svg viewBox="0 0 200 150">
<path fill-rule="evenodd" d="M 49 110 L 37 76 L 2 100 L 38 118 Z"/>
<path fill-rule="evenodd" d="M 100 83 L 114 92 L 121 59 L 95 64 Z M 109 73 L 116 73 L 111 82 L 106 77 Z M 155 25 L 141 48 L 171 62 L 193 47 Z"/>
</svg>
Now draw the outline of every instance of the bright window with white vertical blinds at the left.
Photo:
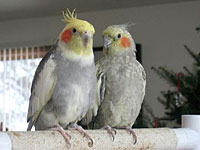
<svg viewBox="0 0 200 150">
<path fill-rule="evenodd" d="M 0 122 L 3 130 L 24 131 L 30 88 L 41 60 L 40 48 L 10 48 L 0 52 Z"/>
</svg>

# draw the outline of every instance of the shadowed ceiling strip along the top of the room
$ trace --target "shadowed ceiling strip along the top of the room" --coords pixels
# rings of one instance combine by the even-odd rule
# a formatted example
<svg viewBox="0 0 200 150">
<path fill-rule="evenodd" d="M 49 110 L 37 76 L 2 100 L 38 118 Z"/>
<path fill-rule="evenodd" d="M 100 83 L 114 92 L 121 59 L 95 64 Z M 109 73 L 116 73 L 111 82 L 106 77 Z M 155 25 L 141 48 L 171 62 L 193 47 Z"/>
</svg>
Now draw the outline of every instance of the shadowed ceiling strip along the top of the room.
<svg viewBox="0 0 200 150">
<path fill-rule="evenodd" d="M 60 15 L 66 8 L 88 12 L 183 1 L 191 0 L 0 0 L 0 21 Z"/>
</svg>

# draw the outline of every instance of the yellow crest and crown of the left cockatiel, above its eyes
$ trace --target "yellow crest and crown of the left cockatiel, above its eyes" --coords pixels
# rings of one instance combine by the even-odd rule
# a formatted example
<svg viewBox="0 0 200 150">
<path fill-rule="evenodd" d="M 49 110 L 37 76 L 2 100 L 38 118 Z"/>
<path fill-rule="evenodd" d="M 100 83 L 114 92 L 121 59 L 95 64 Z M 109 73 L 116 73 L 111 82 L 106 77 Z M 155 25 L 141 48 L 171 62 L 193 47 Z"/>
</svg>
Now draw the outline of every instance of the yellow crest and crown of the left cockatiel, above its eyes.
<svg viewBox="0 0 200 150">
<path fill-rule="evenodd" d="M 66 12 L 63 12 L 64 21 L 67 23 L 67 28 L 76 28 L 79 32 L 88 31 L 91 34 L 95 33 L 94 27 L 87 21 L 77 19 L 77 14 L 75 13 L 76 9 L 72 12 L 67 9 Z"/>
</svg>

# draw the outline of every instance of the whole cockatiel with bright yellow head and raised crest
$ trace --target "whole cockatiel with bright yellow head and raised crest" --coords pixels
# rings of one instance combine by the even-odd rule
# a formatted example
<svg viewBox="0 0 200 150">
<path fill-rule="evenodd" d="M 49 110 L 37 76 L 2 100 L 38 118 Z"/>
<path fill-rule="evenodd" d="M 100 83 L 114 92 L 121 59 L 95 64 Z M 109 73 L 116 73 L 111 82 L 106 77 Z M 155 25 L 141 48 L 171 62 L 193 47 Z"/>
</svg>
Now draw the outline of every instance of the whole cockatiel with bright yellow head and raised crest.
<svg viewBox="0 0 200 150">
<path fill-rule="evenodd" d="M 27 115 L 27 130 L 33 125 L 36 130 L 56 127 L 68 144 L 69 135 L 63 128 L 75 128 L 89 138 L 76 123 L 96 98 L 95 30 L 87 21 L 77 19 L 74 11 L 63 13 L 67 25 L 35 72 Z"/>
</svg>

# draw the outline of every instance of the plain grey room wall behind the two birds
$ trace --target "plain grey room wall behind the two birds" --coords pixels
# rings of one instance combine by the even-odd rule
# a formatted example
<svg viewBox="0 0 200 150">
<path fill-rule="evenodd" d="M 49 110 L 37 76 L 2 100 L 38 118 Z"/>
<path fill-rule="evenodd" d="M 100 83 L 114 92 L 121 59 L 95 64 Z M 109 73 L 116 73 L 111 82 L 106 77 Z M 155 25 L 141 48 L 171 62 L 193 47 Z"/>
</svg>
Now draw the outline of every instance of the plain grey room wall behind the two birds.
<svg viewBox="0 0 200 150">
<path fill-rule="evenodd" d="M 101 32 L 107 25 L 129 21 L 136 23 L 130 31 L 137 43 L 142 44 L 143 65 L 147 72 L 146 102 L 156 116 L 163 115 L 157 102 L 160 90 L 169 86 L 151 70 L 152 66 L 167 65 L 176 71 L 190 66 L 192 59 L 183 48 L 187 44 L 199 52 L 199 36 L 195 27 L 200 25 L 200 2 L 184 2 L 127 9 L 81 13 L 96 28 L 95 46 L 102 45 Z M 64 23 L 61 16 L 12 20 L 0 23 L 0 47 L 44 45 L 54 42 Z"/>
</svg>

